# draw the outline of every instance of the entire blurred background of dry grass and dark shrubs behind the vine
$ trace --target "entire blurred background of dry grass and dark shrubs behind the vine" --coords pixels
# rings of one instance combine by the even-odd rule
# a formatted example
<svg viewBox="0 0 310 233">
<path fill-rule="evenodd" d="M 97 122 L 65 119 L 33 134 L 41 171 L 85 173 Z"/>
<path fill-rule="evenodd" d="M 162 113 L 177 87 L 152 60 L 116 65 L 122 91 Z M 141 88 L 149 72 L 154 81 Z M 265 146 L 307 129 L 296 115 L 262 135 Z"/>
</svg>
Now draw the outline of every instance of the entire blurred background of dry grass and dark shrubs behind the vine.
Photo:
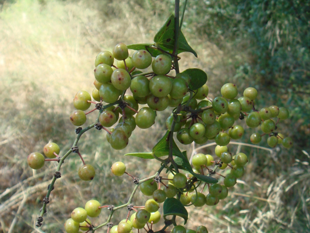
<svg viewBox="0 0 310 233">
<path fill-rule="evenodd" d="M 1 232 L 63 232 L 72 209 L 88 199 L 117 205 L 128 198 L 131 181 L 110 174 L 114 161 L 125 161 L 130 173 L 140 177 L 157 168 L 152 161 L 122 155 L 149 151 L 163 135 L 160 123 L 168 112 L 158 117 L 151 130 L 135 130 L 122 151 L 110 149 L 105 133 L 87 132 L 79 148 L 85 161 L 95 166 L 94 181 L 81 182 L 76 172 L 80 160 L 76 156 L 67 159 L 43 225 L 34 227 L 56 165 L 32 171 L 26 156 L 42 151 L 48 141 L 58 143 L 62 153 L 71 147 L 75 137 L 68 120 L 72 98 L 78 90 L 92 91 L 97 53 L 119 42 L 151 42 L 173 12 L 173 2 L 0 1 Z M 209 232 L 310 230 L 309 12 L 307 1 L 188 1 L 182 30 L 198 59 L 182 54 L 181 69 L 203 69 L 211 96 L 219 95 L 224 83 L 233 82 L 240 93 L 247 86 L 259 91 L 258 108 L 287 107 L 290 118 L 279 128 L 295 143 L 290 150 L 276 147 L 271 153 L 230 146 L 231 152 L 248 154 L 246 173 L 218 205 L 190 208 L 189 228 L 204 224 Z M 244 142 L 249 142 L 249 135 Z M 265 141 L 260 145 L 266 146 Z M 202 151 L 213 153 L 213 149 Z M 106 216 L 102 211 L 92 223 L 102 223 Z M 125 210 L 119 211 L 115 219 L 125 216 Z"/>
</svg>

